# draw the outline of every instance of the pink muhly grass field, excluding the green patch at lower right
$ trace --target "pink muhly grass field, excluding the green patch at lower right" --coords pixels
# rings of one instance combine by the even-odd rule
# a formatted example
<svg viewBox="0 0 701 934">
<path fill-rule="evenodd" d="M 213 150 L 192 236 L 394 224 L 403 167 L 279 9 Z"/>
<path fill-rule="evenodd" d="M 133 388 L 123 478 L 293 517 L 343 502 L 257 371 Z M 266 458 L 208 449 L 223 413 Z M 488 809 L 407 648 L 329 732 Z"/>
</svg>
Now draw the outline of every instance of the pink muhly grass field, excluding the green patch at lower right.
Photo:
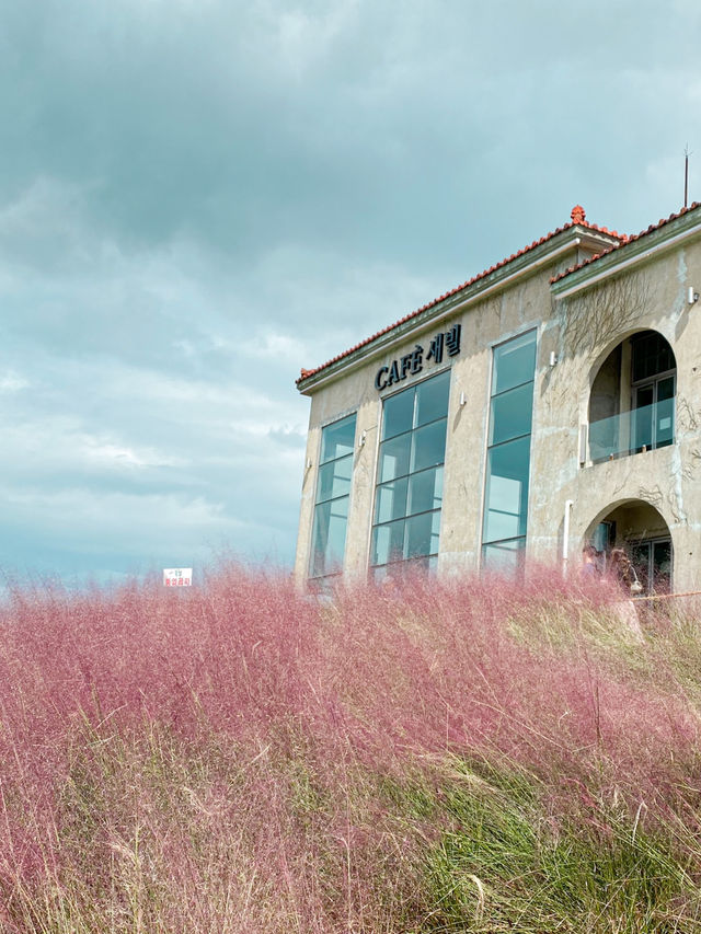
<svg viewBox="0 0 701 934">
<path fill-rule="evenodd" d="M 1 620 L 3 931 L 434 930 L 458 760 L 529 776 L 555 828 L 699 832 L 696 624 L 641 643 L 552 570 L 323 601 L 232 565 L 16 589 Z"/>
</svg>

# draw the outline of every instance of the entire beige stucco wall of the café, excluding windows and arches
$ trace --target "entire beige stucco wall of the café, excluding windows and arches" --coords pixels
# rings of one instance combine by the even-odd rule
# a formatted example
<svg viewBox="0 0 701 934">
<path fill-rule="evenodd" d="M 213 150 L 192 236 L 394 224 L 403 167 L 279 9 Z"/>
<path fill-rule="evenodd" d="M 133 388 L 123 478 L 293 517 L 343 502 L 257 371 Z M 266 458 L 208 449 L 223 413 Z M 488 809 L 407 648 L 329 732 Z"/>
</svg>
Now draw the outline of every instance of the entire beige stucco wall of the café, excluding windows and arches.
<svg viewBox="0 0 701 934">
<path fill-rule="evenodd" d="M 391 392 L 378 392 L 375 376 L 380 366 L 409 353 L 417 342 L 426 347 L 435 333 L 460 322 L 461 353 L 452 360 L 447 358 L 452 374 L 439 570 L 479 566 L 492 348 L 537 328 L 528 555 L 549 563 L 561 561 L 568 500 L 566 552 L 571 564 L 578 562 L 582 544 L 594 526 L 617 504 L 644 500 L 658 510 L 671 534 L 676 589 L 701 587 L 701 302 L 687 303 L 688 286 L 701 287 L 701 242 L 668 250 L 654 261 L 631 267 L 599 290 L 604 303 L 591 298 L 590 288 L 553 301 L 550 277 L 574 258 L 560 257 L 558 264 L 541 267 L 491 298 L 428 323 L 424 332 L 412 334 L 313 392 L 306 459 L 311 466 L 304 470 L 296 564 L 300 583 L 309 566 L 321 428 L 357 412 L 345 572 L 349 577 L 363 576 L 369 556 L 381 399 Z M 594 378 L 617 344 L 646 328 L 660 332 L 677 358 L 676 443 L 581 465 L 579 434 L 588 422 Z M 554 366 L 550 364 L 551 351 L 558 356 Z M 425 366 L 417 377 L 392 389 L 405 389 L 440 369 Z M 364 433 L 365 443 L 360 446 Z M 664 527 L 658 531 L 664 534 Z"/>
</svg>

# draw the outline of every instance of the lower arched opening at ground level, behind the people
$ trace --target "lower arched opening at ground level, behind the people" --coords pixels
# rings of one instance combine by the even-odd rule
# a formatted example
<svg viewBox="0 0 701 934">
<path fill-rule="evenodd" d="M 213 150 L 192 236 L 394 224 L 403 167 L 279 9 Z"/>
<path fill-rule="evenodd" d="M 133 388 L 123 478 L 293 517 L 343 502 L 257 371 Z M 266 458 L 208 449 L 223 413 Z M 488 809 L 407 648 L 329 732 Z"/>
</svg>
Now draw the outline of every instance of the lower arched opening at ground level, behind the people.
<svg viewBox="0 0 701 934">
<path fill-rule="evenodd" d="M 671 593 L 674 549 L 664 517 L 643 499 L 627 499 L 605 509 L 591 522 L 585 537 L 601 555 L 605 565 L 611 550 L 628 553 L 643 593 Z"/>
</svg>

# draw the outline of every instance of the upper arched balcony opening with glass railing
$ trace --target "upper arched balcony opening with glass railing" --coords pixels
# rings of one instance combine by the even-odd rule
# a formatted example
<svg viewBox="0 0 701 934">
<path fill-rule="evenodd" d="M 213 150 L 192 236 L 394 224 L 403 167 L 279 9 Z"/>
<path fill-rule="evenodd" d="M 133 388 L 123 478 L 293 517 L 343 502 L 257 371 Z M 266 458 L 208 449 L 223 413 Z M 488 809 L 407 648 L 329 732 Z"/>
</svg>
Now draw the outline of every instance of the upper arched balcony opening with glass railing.
<svg viewBox="0 0 701 934">
<path fill-rule="evenodd" d="M 675 439 L 677 361 L 668 341 L 642 331 L 599 367 L 589 394 L 589 459 L 613 460 Z"/>
</svg>

